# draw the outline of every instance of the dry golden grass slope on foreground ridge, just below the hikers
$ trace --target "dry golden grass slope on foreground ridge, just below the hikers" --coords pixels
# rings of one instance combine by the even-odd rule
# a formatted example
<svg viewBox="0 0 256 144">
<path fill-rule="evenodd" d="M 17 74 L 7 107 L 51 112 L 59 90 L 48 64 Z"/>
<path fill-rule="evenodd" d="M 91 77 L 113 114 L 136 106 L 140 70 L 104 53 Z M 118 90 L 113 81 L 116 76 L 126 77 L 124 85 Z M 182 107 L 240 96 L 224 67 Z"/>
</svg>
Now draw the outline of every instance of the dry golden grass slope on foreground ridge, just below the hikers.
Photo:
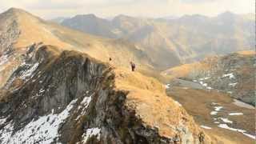
<svg viewBox="0 0 256 144">
<path fill-rule="evenodd" d="M 166 96 L 164 87 L 156 79 L 126 69 L 114 69 L 114 74 L 116 89 L 129 91 L 126 106 L 135 110 L 146 126 L 158 127 L 161 136 L 174 137 L 175 126 L 181 123 L 193 134 L 202 131 L 186 110 Z"/>
</svg>

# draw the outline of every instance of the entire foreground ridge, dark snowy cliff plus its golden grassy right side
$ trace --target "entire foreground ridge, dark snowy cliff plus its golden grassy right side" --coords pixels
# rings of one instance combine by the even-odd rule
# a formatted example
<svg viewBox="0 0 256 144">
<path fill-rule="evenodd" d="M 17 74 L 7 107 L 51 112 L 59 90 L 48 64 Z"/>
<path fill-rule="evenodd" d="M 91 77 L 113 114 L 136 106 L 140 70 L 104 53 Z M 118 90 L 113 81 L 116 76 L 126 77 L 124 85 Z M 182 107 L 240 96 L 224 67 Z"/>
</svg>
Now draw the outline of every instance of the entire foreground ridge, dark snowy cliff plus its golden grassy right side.
<svg viewBox="0 0 256 144">
<path fill-rule="evenodd" d="M 54 46 L 0 89 L 0 143 L 210 143 L 162 84 Z"/>
</svg>

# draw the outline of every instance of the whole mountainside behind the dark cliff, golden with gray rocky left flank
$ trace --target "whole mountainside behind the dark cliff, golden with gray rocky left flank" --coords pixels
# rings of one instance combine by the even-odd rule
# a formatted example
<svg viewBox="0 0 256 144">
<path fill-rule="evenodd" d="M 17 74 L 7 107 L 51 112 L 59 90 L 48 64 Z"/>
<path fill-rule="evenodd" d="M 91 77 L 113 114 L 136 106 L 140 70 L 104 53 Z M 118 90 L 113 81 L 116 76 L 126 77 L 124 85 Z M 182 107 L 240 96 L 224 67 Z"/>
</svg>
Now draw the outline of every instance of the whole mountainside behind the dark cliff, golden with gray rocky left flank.
<svg viewBox="0 0 256 144">
<path fill-rule="evenodd" d="M 11 8 L 0 14 L 0 87 L 26 57 L 28 47 L 34 44 L 78 50 L 102 62 L 112 58 L 110 64 L 113 66 L 130 67 L 130 61 L 134 61 L 138 68 L 153 68 L 146 53 L 130 42 L 70 30 L 24 10 Z"/>
</svg>

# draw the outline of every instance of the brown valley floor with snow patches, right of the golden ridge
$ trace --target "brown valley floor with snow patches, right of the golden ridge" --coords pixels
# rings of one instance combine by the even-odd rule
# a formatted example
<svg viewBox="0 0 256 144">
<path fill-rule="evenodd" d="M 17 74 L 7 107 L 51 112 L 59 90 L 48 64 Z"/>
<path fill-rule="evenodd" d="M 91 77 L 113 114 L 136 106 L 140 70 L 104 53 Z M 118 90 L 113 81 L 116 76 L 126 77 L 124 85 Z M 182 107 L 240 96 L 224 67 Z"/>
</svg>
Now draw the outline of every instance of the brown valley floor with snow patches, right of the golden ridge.
<svg viewBox="0 0 256 144">
<path fill-rule="evenodd" d="M 167 86 L 167 95 L 180 103 L 207 134 L 223 138 L 223 143 L 254 143 L 254 106 L 218 90 L 207 90 L 197 82 L 177 81 L 178 85 Z"/>
</svg>

